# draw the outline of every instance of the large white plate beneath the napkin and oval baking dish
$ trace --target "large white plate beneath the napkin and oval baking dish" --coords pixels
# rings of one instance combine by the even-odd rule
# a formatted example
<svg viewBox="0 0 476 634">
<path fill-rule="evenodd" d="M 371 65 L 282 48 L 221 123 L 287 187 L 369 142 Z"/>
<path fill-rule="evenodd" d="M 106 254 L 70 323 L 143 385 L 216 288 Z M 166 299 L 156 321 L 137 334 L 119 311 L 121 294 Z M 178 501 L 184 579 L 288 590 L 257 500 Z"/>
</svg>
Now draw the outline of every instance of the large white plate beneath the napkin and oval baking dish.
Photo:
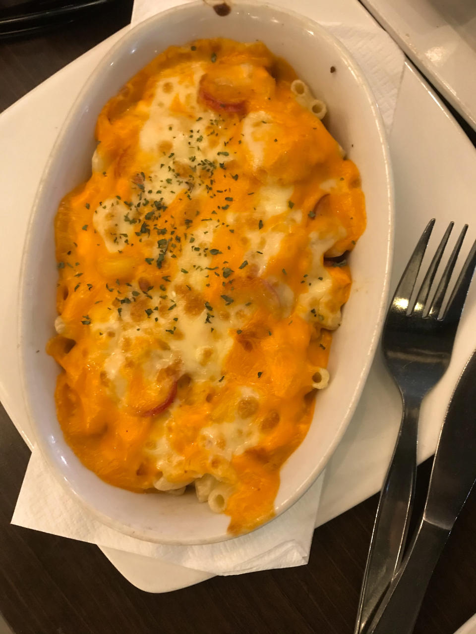
<svg viewBox="0 0 476 634">
<path fill-rule="evenodd" d="M 162 0 L 168 8 L 182 0 Z M 274 0 L 291 6 L 291 0 Z M 137 4 L 137 0 L 136 0 Z M 319 22 L 351 23 L 371 27 L 373 18 L 357 0 L 301 0 L 300 11 Z M 122 36 L 114 34 L 77 58 L 34 91 L 0 114 L 0 190 L 4 209 L 3 248 L 0 250 L 0 399 L 30 448 L 34 436 L 20 387 L 17 338 L 17 295 L 27 221 L 35 191 L 58 129 L 96 64 Z M 37 127 L 41 120 L 42 126 Z M 418 231 L 434 215 L 440 225 L 449 220 L 463 224 L 476 197 L 476 151 L 418 72 L 406 65 L 389 138 L 395 174 L 398 214 L 391 287 L 409 256 Z M 11 188 L 18 173 L 25 174 L 21 189 Z M 476 238 L 470 226 L 468 241 Z M 435 236 L 437 242 L 437 236 Z M 459 373 L 474 347 L 476 292 L 466 302 L 447 373 L 428 395 L 421 411 L 418 462 L 428 458 L 437 443 L 443 413 Z M 383 370 L 380 355 L 374 359 L 357 410 L 337 450 L 327 463 L 316 526 L 324 524 L 375 493 L 387 469 L 401 416 L 399 396 Z M 35 526 L 33 526 L 35 527 Z M 169 592 L 204 581 L 210 574 L 159 559 L 101 547 L 104 555 L 133 585 L 146 592 Z M 279 574 L 279 573 L 277 573 Z M 471 623 L 471 621 L 470 621 Z M 459 633 L 458 633 L 459 634 Z"/>
</svg>

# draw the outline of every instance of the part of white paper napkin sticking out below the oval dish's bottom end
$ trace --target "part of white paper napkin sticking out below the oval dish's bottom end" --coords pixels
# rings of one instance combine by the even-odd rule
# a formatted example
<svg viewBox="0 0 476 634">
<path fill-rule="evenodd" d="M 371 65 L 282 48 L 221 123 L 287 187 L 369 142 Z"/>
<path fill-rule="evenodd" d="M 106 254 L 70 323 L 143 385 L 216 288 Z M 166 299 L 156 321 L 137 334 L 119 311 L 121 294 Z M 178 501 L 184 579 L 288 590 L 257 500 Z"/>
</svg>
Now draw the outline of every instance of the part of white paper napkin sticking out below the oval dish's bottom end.
<svg viewBox="0 0 476 634">
<path fill-rule="evenodd" d="M 129 537 L 95 519 L 65 492 L 39 450 L 34 450 L 11 521 L 214 574 L 301 566 L 308 560 L 323 475 L 293 507 L 253 533 L 218 544 L 167 546 Z"/>
</svg>

